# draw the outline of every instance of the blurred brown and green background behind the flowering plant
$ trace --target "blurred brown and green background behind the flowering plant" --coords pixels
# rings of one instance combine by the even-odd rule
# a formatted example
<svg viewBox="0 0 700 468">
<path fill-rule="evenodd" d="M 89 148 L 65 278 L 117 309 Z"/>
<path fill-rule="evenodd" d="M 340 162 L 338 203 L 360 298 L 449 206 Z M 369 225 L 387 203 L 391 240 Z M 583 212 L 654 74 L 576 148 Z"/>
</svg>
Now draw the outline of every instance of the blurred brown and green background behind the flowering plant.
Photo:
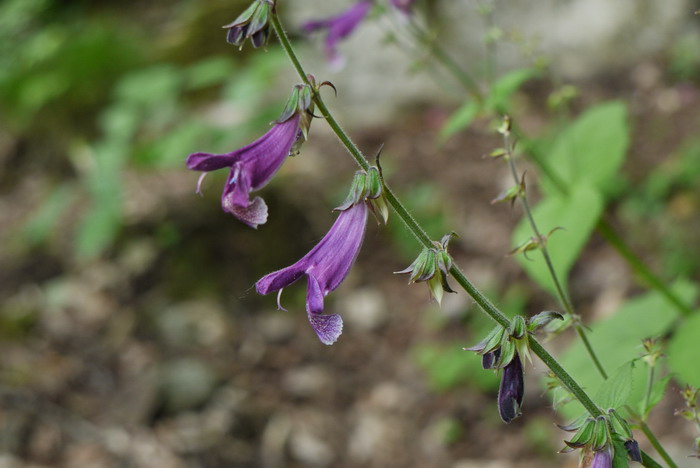
<svg viewBox="0 0 700 468">
<path fill-rule="evenodd" d="M 507 256 L 521 212 L 490 204 L 510 185 L 507 167 L 483 157 L 500 146 L 490 119 L 445 137 L 465 95 L 427 50 L 401 46 L 401 19 L 361 25 L 340 46 L 342 70 L 325 63 L 320 39 L 297 33 L 350 3 L 279 2 L 308 69 L 337 86 L 338 119 L 368 155 L 384 145 L 390 184 L 434 238 L 460 234 L 457 263 L 504 311 L 556 308 Z M 533 136 L 556 129 L 548 102 L 562 89 L 574 116 L 622 100 L 631 140 L 609 219 L 661 278 L 697 282 L 700 4 L 608 3 L 420 7 L 477 74 L 540 70 L 509 103 Z M 392 274 L 418 254 L 396 217 L 369 223 L 327 299 L 346 324 L 332 347 L 308 324 L 304 285 L 285 290 L 289 312 L 255 293 L 327 231 L 355 167 L 316 121 L 260 193 L 270 218 L 257 231 L 221 211 L 225 174 L 195 194 L 186 156 L 257 138 L 298 81 L 274 40 L 226 44 L 221 26 L 246 4 L 0 2 L 0 466 L 577 466 L 556 454 L 565 433 L 544 367 L 528 368 L 525 416 L 503 425 L 497 377 L 462 351 L 488 321 L 462 293 L 438 308 L 426 287 Z M 499 43 L 490 65 L 489 37 Z M 597 235 L 570 284 L 586 321 L 644 292 Z M 669 388 L 652 422 L 696 466 L 685 457 L 693 427 L 673 417 L 679 385 Z"/>
</svg>

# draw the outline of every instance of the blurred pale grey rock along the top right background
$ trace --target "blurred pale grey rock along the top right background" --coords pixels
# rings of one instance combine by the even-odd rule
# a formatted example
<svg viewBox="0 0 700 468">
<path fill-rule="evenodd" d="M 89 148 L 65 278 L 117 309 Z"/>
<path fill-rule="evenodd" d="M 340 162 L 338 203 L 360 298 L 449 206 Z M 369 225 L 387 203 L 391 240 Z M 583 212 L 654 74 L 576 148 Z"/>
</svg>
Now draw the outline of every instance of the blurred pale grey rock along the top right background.
<svg viewBox="0 0 700 468">
<path fill-rule="evenodd" d="M 484 18 L 477 13 L 478 5 L 442 1 L 437 6 L 431 22 L 438 28 L 441 44 L 464 69 L 473 69 L 474 63 L 483 60 L 487 29 Z M 347 2 L 342 0 L 299 0 L 286 13 L 290 15 L 290 29 L 298 31 L 305 21 L 345 8 Z M 501 41 L 498 50 L 499 72 L 528 64 L 532 57 L 525 57 L 521 49 L 534 49 L 550 59 L 555 75 L 565 79 L 608 75 L 667 48 L 692 27 L 692 11 L 688 0 L 545 0 L 534 5 L 525 0 L 495 2 L 495 24 L 509 38 Z M 337 105 L 343 109 L 343 120 L 348 125 L 386 124 L 406 100 L 445 102 L 453 99 L 449 95 L 461 93 L 451 79 L 436 83 L 431 73 L 440 66 L 432 61 L 419 73 L 406 73 L 415 60 L 422 58 L 422 52 L 411 56 L 388 43 L 386 38 L 394 30 L 391 21 L 365 21 L 340 44 L 340 53 L 348 64 L 341 70 L 329 67 L 321 38 L 311 41 L 312 50 L 305 54 L 307 67 L 319 74 L 322 71 L 324 79 L 337 86 Z M 352 73 L 348 72 L 350 68 Z M 402 79 L 386 79 L 397 72 Z"/>
</svg>

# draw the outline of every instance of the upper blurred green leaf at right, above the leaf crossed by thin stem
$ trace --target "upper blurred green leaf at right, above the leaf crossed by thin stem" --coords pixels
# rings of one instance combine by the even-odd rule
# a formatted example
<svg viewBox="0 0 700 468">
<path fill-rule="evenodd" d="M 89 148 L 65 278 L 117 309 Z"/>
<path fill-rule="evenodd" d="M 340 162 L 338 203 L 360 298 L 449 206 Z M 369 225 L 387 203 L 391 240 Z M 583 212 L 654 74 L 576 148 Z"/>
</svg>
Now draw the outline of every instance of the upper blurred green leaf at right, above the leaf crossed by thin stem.
<svg viewBox="0 0 700 468">
<path fill-rule="evenodd" d="M 547 156 L 547 165 L 565 185 L 586 181 L 599 189 L 609 184 L 629 146 L 627 109 L 611 101 L 588 109 L 562 132 Z M 547 193 L 557 189 L 542 181 Z"/>
</svg>

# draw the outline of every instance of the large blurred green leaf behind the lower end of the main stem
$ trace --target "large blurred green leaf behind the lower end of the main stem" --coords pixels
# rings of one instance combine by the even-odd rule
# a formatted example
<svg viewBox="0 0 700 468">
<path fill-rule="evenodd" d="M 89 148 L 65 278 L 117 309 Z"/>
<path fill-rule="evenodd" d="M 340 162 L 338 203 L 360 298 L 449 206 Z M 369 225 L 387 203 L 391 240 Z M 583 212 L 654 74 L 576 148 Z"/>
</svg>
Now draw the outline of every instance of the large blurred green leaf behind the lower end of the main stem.
<svg viewBox="0 0 700 468">
<path fill-rule="evenodd" d="M 695 300 L 698 292 L 697 286 L 687 281 L 678 281 L 672 289 L 686 302 Z M 658 292 L 651 291 L 628 300 L 611 317 L 593 323 L 588 332 L 588 339 L 603 367 L 611 372 L 639 357 L 642 340 L 664 335 L 676 323 L 678 317 L 675 306 L 669 304 Z M 559 358 L 560 364 L 587 392 L 595 394 L 593 392 L 606 385 L 580 340 L 566 348 Z M 633 378 L 644 382 L 646 372 L 644 366 L 637 366 L 632 372 Z M 557 401 L 561 399 L 562 393 L 561 390 L 555 392 L 557 393 L 553 397 Z M 638 408 L 643 398 L 644 385 L 637 385 L 629 397 L 630 406 Z M 559 407 L 559 411 L 568 419 L 581 414 L 583 408 L 572 402 Z"/>
</svg>

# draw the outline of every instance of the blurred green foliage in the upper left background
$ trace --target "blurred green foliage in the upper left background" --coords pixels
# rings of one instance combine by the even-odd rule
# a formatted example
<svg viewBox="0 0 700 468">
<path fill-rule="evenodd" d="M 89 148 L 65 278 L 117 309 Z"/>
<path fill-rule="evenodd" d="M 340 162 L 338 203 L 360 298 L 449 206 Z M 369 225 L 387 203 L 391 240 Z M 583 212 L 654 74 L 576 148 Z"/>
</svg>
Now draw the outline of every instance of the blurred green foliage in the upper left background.
<svg viewBox="0 0 700 468">
<path fill-rule="evenodd" d="M 170 14 L 182 23 L 204 15 L 196 9 Z M 146 21 L 82 2 L 0 5 L 0 122 L 28 142 L 32 162 L 59 169 L 23 230 L 28 245 L 51 240 L 80 206 L 74 253 L 101 254 L 128 223 L 127 172 L 181 167 L 196 150 L 230 151 L 281 108 L 268 93 L 284 64 L 279 50 L 174 60 L 187 55 L 178 51 L 184 45 L 157 40 L 162 26 Z"/>
</svg>

